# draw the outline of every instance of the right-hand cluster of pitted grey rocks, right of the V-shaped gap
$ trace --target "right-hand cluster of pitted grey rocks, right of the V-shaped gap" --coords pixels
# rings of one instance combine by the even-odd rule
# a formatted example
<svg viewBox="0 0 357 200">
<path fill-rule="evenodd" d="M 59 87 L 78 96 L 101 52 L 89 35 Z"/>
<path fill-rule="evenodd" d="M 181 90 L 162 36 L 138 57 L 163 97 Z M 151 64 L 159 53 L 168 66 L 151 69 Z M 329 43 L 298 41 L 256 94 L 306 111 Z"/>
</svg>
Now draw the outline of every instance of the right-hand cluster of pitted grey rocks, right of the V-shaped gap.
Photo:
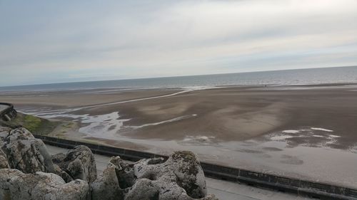
<svg viewBox="0 0 357 200">
<path fill-rule="evenodd" d="M 93 200 L 216 199 L 206 195 L 203 170 L 192 152 L 175 152 L 166 161 L 142 159 L 134 164 L 112 157 L 91 188 Z"/>
</svg>

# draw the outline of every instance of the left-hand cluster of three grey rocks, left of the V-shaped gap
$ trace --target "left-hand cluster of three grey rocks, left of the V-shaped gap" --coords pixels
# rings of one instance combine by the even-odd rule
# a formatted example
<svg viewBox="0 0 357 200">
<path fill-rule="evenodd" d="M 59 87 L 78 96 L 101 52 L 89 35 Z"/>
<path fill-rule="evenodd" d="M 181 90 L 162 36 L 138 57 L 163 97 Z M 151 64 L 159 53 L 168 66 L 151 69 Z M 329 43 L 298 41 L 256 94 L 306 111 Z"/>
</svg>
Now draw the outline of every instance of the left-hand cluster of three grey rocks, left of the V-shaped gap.
<svg viewBox="0 0 357 200">
<path fill-rule="evenodd" d="M 89 200 L 88 182 L 96 179 L 91 150 L 79 146 L 54 158 L 59 166 L 28 130 L 0 127 L 0 199 Z"/>
</svg>

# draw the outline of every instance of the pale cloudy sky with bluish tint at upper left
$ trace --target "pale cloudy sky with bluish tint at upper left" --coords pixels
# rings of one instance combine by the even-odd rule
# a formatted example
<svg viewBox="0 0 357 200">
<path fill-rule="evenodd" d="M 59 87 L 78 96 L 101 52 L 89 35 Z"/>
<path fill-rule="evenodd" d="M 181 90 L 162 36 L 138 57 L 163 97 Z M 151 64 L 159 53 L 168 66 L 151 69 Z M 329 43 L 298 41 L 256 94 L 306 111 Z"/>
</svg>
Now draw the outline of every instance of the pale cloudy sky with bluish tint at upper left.
<svg viewBox="0 0 357 200">
<path fill-rule="evenodd" d="M 0 0 L 0 86 L 346 65 L 354 0 Z"/>
</svg>

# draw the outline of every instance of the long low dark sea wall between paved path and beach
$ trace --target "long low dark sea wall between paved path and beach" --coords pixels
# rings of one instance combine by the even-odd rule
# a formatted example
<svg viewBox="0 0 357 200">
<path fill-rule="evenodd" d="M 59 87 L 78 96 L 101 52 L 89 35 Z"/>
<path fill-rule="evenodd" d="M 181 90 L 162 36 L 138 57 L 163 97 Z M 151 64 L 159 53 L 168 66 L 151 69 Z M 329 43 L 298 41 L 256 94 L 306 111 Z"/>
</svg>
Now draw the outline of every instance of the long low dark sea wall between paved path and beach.
<svg viewBox="0 0 357 200">
<path fill-rule="evenodd" d="M 104 154 L 106 156 L 119 155 L 121 158 L 131 161 L 138 161 L 139 159 L 154 157 L 164 157 L 165 159 L 168 158 L 165 155 L 140 152 L 118 147 L 110 147 L 102 144 L 91 144 L 87 142 L 64 140 L 61 138 L 41 135 L 35 135 L 35 137 L 41 139 L 46 144 L 54 145 L 57 147 L 73 148 L 77 145 L 85 145 L 89 147 L 95 154 Z M 316 199 L 357 199 L 357 189 L 346 188 L 343 186 L 334 186 L 331 184 L 293 179 L 290 177 L 280 177 L 273 174 L 264 174 L 261 172 L 225 167 L 206 162 L 201 162 L 201 166 L 206 177 L 244 183 L 251 186 L 274 189 L 302 196 L 309 196 Z"/>
</svg>

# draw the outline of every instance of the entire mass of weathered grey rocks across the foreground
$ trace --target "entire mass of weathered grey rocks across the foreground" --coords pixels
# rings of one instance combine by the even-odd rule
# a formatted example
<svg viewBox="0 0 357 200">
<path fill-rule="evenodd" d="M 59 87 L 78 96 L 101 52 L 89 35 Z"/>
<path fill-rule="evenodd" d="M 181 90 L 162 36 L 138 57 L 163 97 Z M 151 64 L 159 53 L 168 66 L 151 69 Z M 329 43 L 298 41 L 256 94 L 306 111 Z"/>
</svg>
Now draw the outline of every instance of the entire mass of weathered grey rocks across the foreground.
<svg viewBox="0 0 357 200">
<path fill-rule="evenodd" d="M 0 147 L 0 199 L 4 200 L 216 199 L 206 195 L 203 170 L 192 152 L 134 163 L 111 157 L 97 178 L 94 154 L 86 146 L 50 156 L 28 130 L 0 127 Z"/>
</svg>

